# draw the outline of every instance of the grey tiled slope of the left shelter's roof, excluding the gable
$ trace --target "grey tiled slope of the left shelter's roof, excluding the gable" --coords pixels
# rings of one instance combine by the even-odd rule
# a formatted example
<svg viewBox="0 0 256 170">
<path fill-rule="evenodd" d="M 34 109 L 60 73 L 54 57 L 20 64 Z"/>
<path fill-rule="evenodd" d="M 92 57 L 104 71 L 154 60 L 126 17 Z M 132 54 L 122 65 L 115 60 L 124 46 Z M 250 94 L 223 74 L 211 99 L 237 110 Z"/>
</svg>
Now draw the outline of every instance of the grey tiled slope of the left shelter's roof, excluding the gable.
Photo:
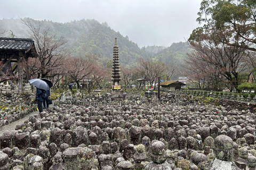
<svg viewBox="0 0 256 170">
<path fill-rule="evenodd" d="M 0 37 L 0 50 L 28 50 L 34 41 L 28 38 L 3 38 Z"/>
</svg>

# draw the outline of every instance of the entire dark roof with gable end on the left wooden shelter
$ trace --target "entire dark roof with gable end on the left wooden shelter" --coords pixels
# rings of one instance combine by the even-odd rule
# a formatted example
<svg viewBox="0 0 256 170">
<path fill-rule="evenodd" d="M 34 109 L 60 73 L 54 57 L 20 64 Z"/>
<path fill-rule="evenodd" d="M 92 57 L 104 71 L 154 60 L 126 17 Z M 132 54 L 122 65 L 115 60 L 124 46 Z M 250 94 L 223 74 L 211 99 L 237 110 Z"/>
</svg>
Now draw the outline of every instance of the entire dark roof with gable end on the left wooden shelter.
<svg viewBox="0 0 256 170">
<path fill-rule="evenodd" d="M 25 53 L 27 57 L 36 56 L 34 41 L 28 38 L 5 38 L 0 37 L 0 55 Z"/>
</svg>

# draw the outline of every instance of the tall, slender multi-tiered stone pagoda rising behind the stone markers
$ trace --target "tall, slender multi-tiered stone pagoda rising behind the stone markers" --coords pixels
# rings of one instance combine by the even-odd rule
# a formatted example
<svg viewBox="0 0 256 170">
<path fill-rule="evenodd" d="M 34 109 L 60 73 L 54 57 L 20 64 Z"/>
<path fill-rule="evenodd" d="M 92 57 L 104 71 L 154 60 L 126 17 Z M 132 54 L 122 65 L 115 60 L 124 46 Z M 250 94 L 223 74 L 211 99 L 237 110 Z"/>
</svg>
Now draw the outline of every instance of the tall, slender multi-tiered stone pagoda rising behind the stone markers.
<svg viewBox="0 0 256 170">
<path fill-rule="evenodd" d="M 110 98 L 112 101 L 114 100 L 123 100 L 126 98 L 126 94 L 121 90 L 121 86 L 119 85 L 119 81 L 121 80 L 120 75 L 120 63 L 119 63 L 119 54 L 118 54 L 118 46 L 117 46 L 117 38 L 115 38 L 114 52 L 113 52 L 113 70 L 112 70 L 112 81 L 113 86 L 110 91 Z"/>
</svg>

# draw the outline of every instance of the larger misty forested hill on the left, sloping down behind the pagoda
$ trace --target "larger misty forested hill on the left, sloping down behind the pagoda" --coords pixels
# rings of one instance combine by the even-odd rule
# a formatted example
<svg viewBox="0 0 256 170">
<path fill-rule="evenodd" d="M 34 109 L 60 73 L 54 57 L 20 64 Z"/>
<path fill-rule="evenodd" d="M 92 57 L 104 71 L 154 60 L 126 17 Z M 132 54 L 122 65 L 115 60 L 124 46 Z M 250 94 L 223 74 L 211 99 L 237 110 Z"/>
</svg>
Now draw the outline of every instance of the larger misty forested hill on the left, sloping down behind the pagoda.
<svg viewBox="0 0 256 170">
<path fill-rule="evenodd" d="M 30 20 L 33 24 L 41 24 L 41 29 L 47 29 L 50 36 L 57 38 L 63 37 L 67 40 L 66 47 L 74 57 L 85 56 L 86 54 L 97 54 L 99 60 L 105 63 L 113 57 L 113 46 L 115 37 L 118 40 L 119 54 L 121 62 L 125 65 L 132 65 L 137 58 L 146 56 L 145 50 L 141 50 L 137 44 L 123 37 L 119 32 L 107 27 L 107 23 L 100 24 L 95 20 L 80 20 L 67 23 L 58 23 L 52 21 L 36 21 Z M 3 30 L 11 30 L 14 38 L 30 37 L 27 33 L 26 25 L 17 19 L 0 20 L 0 28 Z M 5 32 L 2 37 L 10 37 L 10 31 Z"/>
</svg>

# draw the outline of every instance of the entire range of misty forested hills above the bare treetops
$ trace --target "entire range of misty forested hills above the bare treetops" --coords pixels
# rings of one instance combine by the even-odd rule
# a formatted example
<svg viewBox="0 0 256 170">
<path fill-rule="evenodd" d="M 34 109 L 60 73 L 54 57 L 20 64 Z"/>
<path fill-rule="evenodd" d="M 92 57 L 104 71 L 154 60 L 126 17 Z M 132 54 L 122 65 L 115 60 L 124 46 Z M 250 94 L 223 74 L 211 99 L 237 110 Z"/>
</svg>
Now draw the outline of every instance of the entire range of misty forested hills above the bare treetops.
<svg viewBox="0 0 256 170">
<path fill-rule="evenodd" d="M 33 20 L 33 19 L 31 19 Z M 161 58 L 167 63 L 179 64 L 182 62 L 189 47 L 186 43 L 173 43 L 170 47 L 148 46 L 139 48 L 129 37 L 124 37 L 121 33 L 111 29 L 108 24 L 99 23 L 96 20 L 80 20 L 67 23 L 53 21 L 41 22 L 42 27 L 49 28 L 49 33 L 65 37 L 68 40 L 67 48 L 75 57 L 85 56 L 85 54 L 99 55 L 100 62 L 106 64 L 113 58 L 113 46 L 115 37 L 119 46 L 120 62 L 123 65 L 135 65 L 139 57 L 152 56 Z M 5 30 L 5 33 L 3 33 Z M 29 38 L 28 28 L 20 19 L 0 20 L 1 37 Z"/>
</svg>

